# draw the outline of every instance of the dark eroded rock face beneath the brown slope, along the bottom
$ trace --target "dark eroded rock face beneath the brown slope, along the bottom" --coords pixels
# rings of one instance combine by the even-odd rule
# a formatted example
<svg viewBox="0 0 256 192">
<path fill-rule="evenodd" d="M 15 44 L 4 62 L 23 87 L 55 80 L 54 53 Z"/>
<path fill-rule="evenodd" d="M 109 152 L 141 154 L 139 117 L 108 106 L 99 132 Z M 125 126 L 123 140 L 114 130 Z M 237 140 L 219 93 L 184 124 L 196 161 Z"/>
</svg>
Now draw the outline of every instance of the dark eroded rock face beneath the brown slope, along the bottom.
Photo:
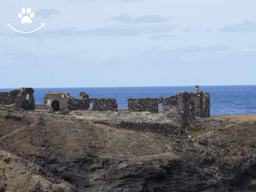
<svg viewBox="0 0 256 192">
<path fill-rule="evenodd" d="M 161 162 L 161 160 L 159 159 Z M 228 163 L 216 156 L 170 159 L 166 165 L 125 159 L 37 159 L 80 191 L 239 192 L 256 190 L 256 159 Z M 159 164 L 158 164 L 159 163 Z"/>
</svg>

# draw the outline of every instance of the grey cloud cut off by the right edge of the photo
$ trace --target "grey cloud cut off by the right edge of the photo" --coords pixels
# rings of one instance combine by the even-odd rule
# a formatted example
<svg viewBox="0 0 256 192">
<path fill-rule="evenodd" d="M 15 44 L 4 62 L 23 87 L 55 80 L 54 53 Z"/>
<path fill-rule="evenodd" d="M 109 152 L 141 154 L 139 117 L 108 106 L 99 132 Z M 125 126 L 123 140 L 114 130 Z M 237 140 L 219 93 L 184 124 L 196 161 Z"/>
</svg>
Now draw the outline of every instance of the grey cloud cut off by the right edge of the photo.
<svg viewBox="0 0 256 192">
<path fill-rule="evenodd" d="M 256 31 L 256 22 L 245 20 L 243 23 L 237 23 L 225 26 L 220 29 L 223 32 L 237 32 L 237 31 Z"/>
</svg>

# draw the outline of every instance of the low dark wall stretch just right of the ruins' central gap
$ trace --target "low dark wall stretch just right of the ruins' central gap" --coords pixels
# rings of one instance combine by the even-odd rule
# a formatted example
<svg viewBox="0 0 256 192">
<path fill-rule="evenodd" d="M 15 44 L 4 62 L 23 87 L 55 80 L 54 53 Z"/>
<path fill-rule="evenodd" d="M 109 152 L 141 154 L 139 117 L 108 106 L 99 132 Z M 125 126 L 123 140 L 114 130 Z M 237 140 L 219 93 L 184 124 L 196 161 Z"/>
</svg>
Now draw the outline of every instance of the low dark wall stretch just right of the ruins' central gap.
<svg viewBox="0 0 256 192">
<path fill-rule="evenodd" d="M 148 111 L 158 113 L 158 103 L 163 103 L 163 97 L 161 98 L 130 98 L 128 99 L 128 111 Z"/>
</svg>

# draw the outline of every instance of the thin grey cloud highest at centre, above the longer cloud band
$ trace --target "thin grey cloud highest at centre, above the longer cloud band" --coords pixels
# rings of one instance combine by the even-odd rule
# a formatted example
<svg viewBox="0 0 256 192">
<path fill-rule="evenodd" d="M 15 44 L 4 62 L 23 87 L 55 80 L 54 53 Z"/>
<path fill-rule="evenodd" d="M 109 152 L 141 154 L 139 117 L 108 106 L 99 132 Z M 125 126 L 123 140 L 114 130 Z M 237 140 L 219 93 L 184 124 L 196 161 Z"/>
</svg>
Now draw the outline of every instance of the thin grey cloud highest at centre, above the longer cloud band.
<svg viewBox="0 0 256 192">
<path fill-rule="evenodd" d="M 161 17 L 159 15 L 145 15 L 142 17 L 132 18 L 127 16 L 127 14 L 122 14 L 120 16 L 112 17 L 112 21 L 120 21 L 122 23 L 160 23 L 165 21 L 171 21 L 172 17 Z"/>
</svg>

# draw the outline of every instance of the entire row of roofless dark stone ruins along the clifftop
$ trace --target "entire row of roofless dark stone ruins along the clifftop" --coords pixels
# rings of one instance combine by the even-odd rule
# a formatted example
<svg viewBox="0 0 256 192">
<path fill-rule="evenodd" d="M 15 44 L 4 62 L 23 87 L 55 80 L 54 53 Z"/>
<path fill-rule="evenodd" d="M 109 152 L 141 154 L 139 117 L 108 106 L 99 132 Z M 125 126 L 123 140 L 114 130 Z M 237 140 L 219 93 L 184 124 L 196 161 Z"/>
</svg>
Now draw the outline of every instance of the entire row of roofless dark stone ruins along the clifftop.
<svg viewBox="0 0 256 192">
<path fill-rule="evenodd" d="M 80 99 L 76 99 L 70 96 L 70 93 L 49 91 L 44 95 L 43 103 L 35 104 L 34 90 L 20 88 L 9 92 L 0 92 L 0 103 L 25 110 L 36 108 L 48 112 L 58 111 L 60 114 L 68 114 L 73 110 L 118 111 L 116 99 L 89 98 L 87 93 L 79 93 Z M 90 108 L 90 103 L 92 108 Z M 182 91 L 167 98 L 130 98 L 128 99 L 128 111 L 158 113 L 159 104 L 162 104 L 164 116 L 175 118 L 184 126 L 188 122 L 194 121 L 196 116 L 201 118 L 210 116 L 210 94 L 199 91 L 199 85 L 196 85 L 195 93 Z"/>
</svg>

